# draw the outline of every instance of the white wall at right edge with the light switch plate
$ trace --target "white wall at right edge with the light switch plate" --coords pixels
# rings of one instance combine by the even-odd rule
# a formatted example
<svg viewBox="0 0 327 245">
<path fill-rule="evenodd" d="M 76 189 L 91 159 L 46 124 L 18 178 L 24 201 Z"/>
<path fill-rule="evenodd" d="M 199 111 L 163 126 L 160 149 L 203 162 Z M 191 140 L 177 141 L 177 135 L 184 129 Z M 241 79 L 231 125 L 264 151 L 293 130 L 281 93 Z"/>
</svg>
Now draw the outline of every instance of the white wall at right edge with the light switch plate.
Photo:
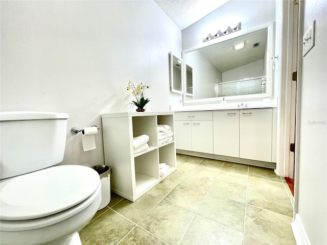
<svg viewBox="0 0 327 245">
<path fill-rule="evenodd" d="M 300 2 L 299 36 L 316 20 L 315 46 L 305 57 L 299 52 L 298 69 L 295 225 L 307 244 L 327 244 L 326 17 L 325 1 Z"/>
</svg>

